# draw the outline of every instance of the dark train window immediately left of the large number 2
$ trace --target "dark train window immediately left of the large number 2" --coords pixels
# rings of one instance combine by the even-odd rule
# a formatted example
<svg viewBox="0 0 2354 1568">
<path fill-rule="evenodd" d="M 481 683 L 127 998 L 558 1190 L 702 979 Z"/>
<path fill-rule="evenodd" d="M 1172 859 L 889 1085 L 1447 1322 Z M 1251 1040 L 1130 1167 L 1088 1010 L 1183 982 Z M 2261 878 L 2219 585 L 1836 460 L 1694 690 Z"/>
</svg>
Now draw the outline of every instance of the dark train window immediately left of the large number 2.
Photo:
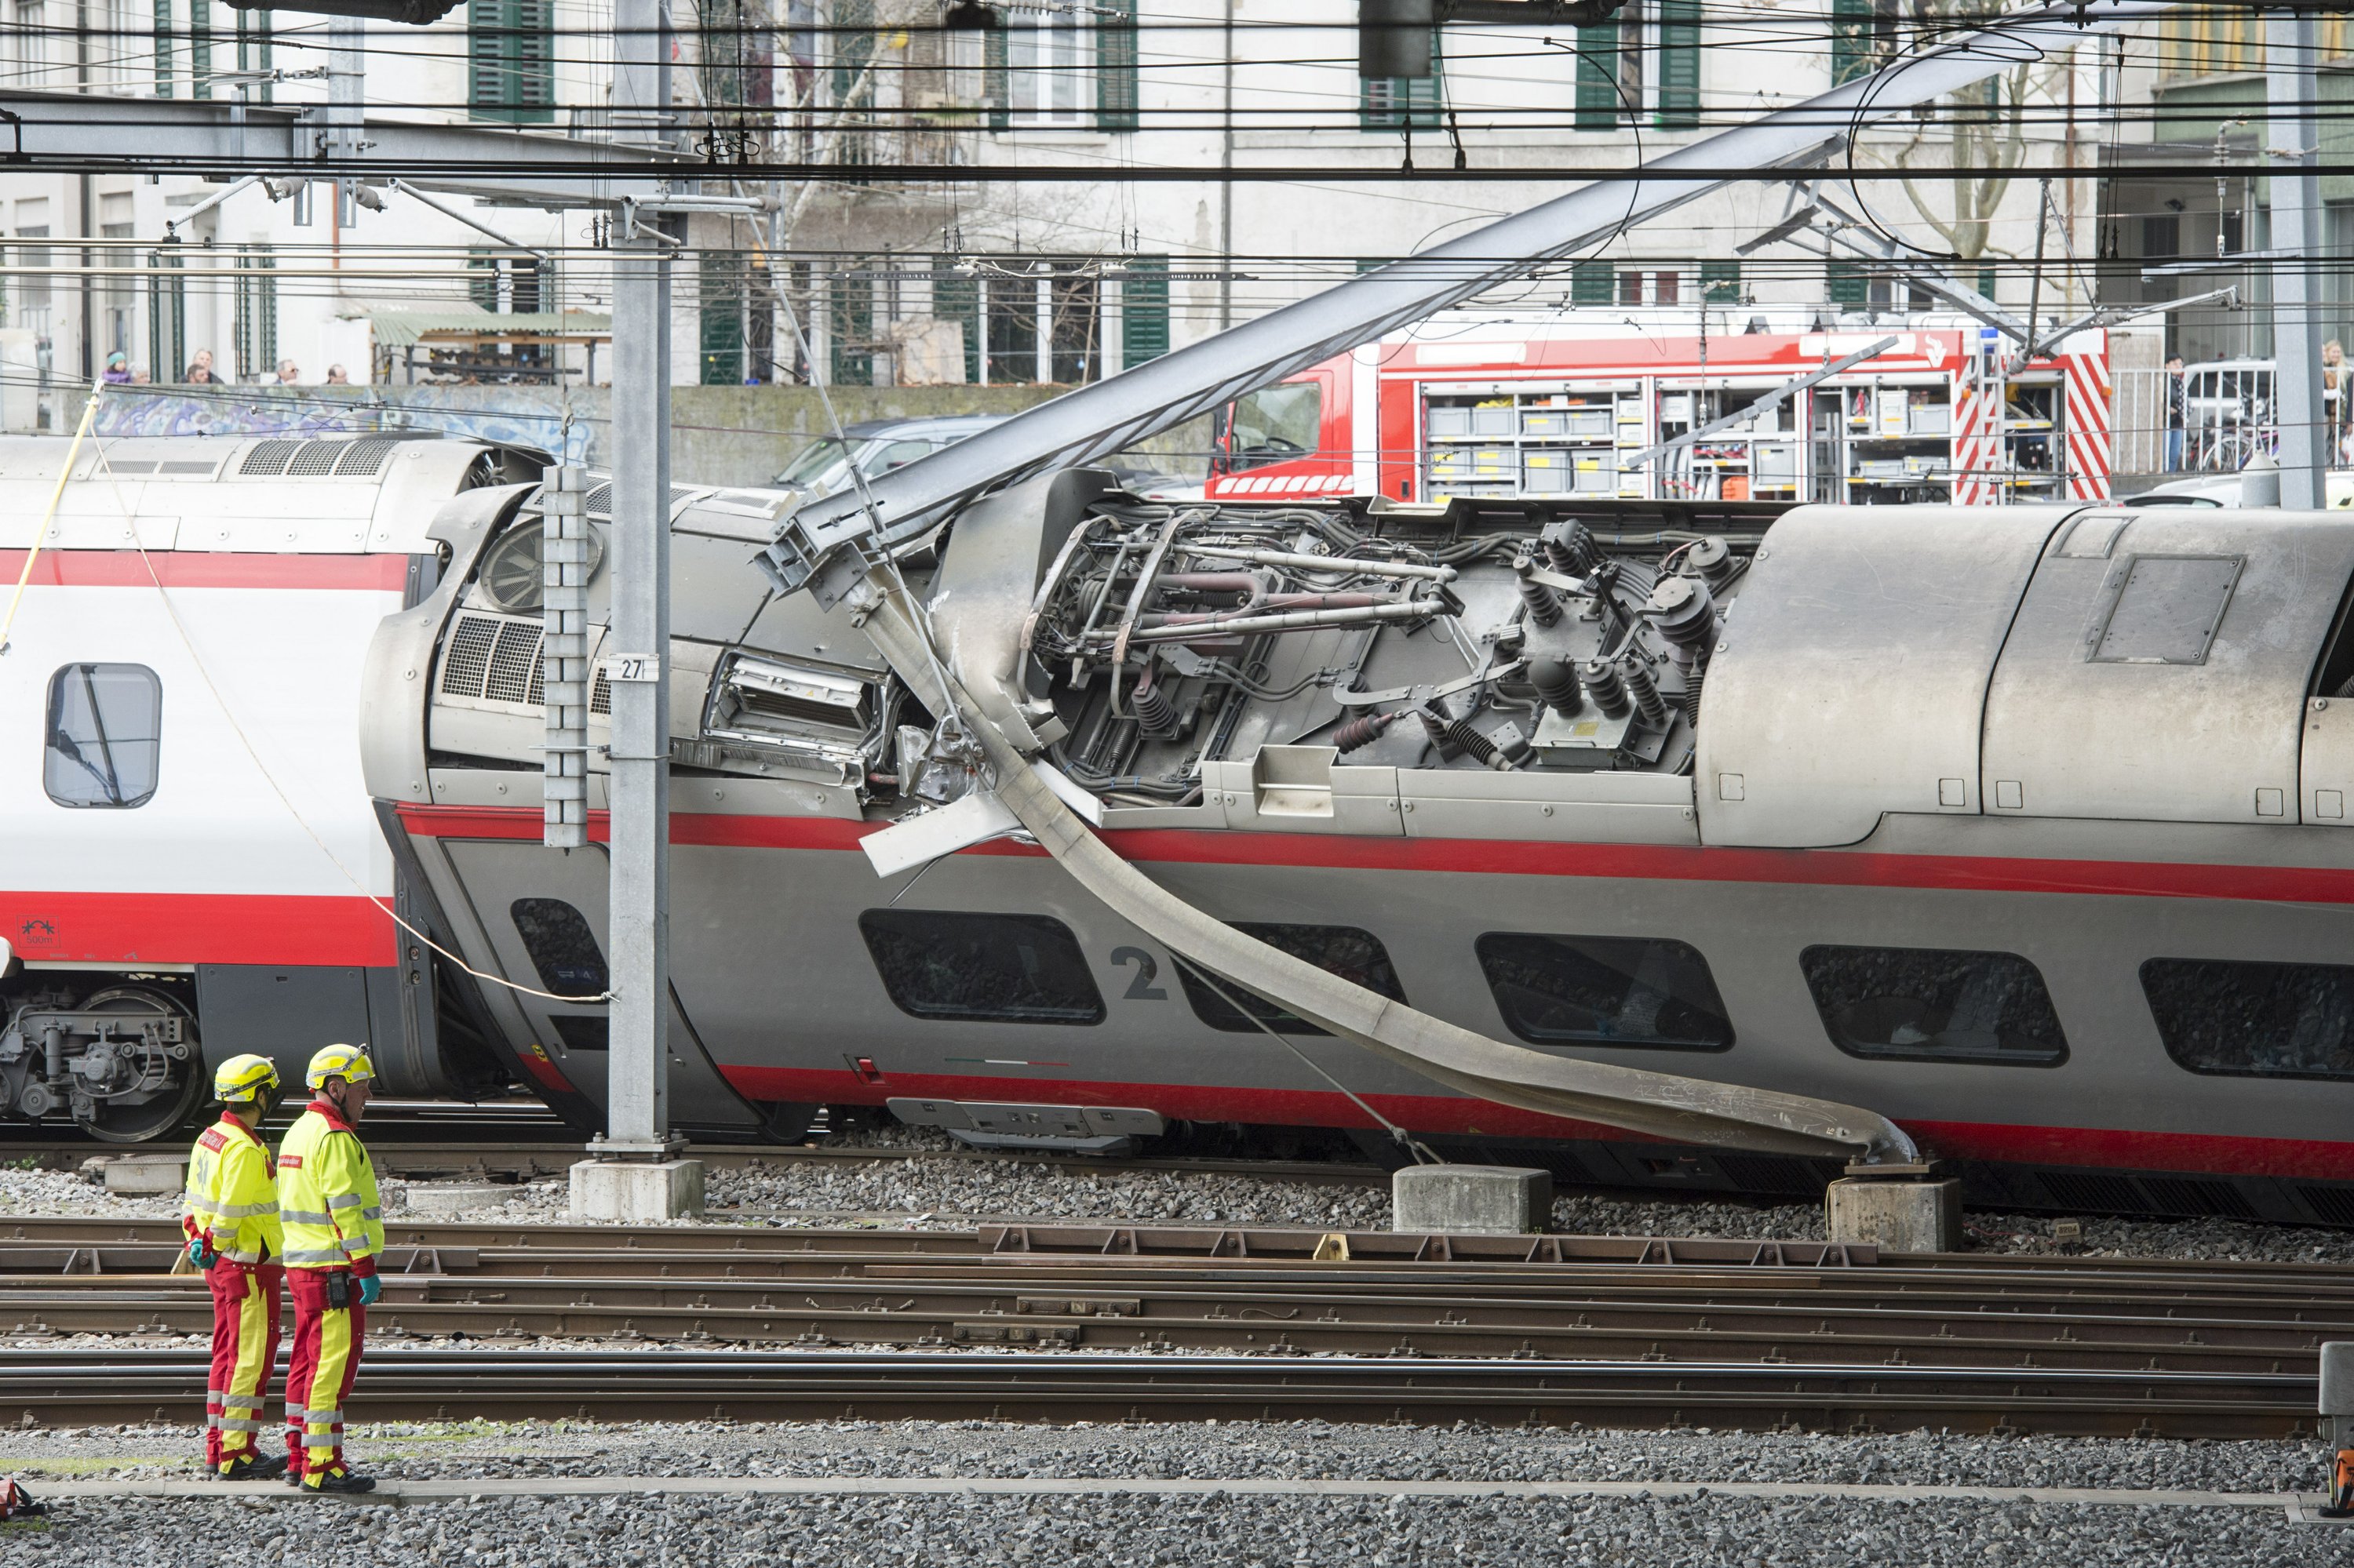
<svg viewBox="0 0 2354 1568">
<path fill-rule="evenodd" d="M 883 989 L 911 1017 L 982 1024 L 1102 1024 L 1104 994 L 1071 928 L 1052 916 L 869 909 L 859 935 Z"/>
</svg>

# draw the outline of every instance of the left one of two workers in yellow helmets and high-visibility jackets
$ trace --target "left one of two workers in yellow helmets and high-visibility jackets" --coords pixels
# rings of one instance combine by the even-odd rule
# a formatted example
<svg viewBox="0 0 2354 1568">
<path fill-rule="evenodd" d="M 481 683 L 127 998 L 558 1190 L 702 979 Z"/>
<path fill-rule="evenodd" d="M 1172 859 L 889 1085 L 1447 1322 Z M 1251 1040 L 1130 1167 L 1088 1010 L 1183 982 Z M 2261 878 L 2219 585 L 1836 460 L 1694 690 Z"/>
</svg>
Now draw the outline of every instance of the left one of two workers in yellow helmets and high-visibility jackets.
<svg viewBox="0 0 2354 1568">
<path fill-rule="evenodd" d="M 221 1062 L 212 1076 L 221 1121 L 188 1151 L 188 1198 L 179 1227 L 188 1262 L 212 1285 L 212 1377 L 205 1382 L 205 1464 L 228 1481 L 268 1481 L 287 1462 L 261 1457 L 261 1401 L 278 1361 L 278 1283 L 285 1241 L 278 1229 L 275 1161 L 261 1118 L 278 1104 L 268 1057 Z"/>
</svg>

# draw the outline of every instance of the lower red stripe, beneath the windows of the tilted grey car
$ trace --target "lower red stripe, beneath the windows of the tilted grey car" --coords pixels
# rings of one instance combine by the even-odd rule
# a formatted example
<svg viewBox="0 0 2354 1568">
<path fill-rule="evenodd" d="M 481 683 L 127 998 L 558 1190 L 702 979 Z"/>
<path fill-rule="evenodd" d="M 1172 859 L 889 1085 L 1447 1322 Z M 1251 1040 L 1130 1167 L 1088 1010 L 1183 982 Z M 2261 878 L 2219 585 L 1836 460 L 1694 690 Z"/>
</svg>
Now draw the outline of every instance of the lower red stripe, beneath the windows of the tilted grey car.
<svg viewBox="0 0 2354 1568">
<path fill-rule="evenodd" d="M 1099 1104 L 1151 1109 L 1175 1121 L 1243 1121 L 1306 1128 L 1377 1128 L 1346 1095 L 1198 1083 L 1085 1083 L 1062 1078 L 977 1078 L 906 1074 L 883 1062 L 883 1078 L 862 1083 L 843 1069 L 720 1067 L 749 1099 L 793 1104 L 878 1104 L 880 1099 L 975 1099 L 1015 1104 Z M 1620 1128 L 1540 1116 L 1485 1099 L 1445 1095 L 1365 1095 L 1382 1116 L 1415 1132 L 1462 1137 L 1636 1140 Z M 2187 1175 L 2262 1175 L 2316 1182 L 2354 1180 L 2354 1142 L 2234 1137 L 2220 1132 L 2149 1132 L 2135 1128 L 2020 1128 L 1968 1121 L 1904 1121 L 1940 1158 L 2010 1165 L 2100 1165 L 2109 1170 L 2180 1170 Z"/>
</svg>

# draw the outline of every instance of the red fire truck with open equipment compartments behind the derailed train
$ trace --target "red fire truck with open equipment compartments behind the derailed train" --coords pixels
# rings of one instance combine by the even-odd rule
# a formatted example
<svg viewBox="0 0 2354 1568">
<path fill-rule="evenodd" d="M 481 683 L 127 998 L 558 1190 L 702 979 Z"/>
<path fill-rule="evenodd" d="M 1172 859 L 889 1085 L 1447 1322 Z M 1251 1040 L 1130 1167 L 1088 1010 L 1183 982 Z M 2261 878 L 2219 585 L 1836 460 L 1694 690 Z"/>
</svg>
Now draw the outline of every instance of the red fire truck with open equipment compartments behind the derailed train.
<svg viewBox="0 0 2354 1568">
<path fill-rule="evenodd" d="M 2015 344 L 1959 315 L 1815 332 L 1751 313 L 1747 325 L 1700 334 L 1690 313 L 1422 323 L 1229 405 L 1208 494 L 1963 506 L 2109 494 L 2104 332 L 2022 363 Z"/>
</svg>

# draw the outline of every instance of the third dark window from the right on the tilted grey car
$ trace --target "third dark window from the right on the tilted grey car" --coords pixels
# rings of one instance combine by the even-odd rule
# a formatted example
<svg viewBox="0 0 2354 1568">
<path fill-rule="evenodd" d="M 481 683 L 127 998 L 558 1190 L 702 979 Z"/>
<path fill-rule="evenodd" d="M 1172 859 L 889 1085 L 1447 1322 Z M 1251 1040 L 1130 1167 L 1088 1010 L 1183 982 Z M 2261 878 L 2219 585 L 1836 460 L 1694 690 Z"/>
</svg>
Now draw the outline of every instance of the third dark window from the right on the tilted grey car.
<svg viewBox="0 0 2354 1568">
<path fill-rule="evenodd" d="M 1535 1045 L 1733 1048 L 1709 961 L 1683 942 L 1492 930 L 1474 951 L 1504 1026 Z"/>
</svg>

